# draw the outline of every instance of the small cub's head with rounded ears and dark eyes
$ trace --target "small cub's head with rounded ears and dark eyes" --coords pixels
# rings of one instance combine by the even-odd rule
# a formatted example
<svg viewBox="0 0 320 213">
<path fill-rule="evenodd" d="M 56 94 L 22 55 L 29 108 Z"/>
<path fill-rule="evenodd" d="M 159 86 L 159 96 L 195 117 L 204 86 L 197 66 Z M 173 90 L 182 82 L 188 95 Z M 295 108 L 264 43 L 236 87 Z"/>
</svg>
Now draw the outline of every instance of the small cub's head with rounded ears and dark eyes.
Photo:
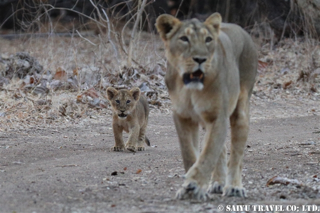
<svg viewBox="0 0 320 213">
<path fill-rule="evenodd" d="M 125 120 L 132 115 L 136 102 L 140 97 L 140 89 L 135 87 L 131 90 L 117 91 L 113 87 L 107 88 L 107 97 L 110 101 L 114 115 L 118 115 L 119 119 Z"/>
</svg>

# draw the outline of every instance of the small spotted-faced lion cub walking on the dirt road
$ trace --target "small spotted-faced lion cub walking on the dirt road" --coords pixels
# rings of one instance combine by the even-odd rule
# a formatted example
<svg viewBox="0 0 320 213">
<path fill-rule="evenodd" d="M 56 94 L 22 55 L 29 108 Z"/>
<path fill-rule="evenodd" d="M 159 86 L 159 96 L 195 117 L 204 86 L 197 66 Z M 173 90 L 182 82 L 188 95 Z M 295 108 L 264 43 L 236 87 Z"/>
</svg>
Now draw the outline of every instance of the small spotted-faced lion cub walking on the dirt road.
<svg viewBox="0 0 320 213">
<path fill-rule="evenodd" d="M 147 98 L 140 94 L 140 89 L 137 87 L 130 91 L 117 91 L 113 87 L 108 87 L 107 97 L 113 111 L 112 129 L 116 142 L 111 150 L 124 151 L 125 148 L 131 152 L 146 150 L 144 143 L 150 146 L 149 139 L 145 135 L 149 115 Z M 123 130 L 129 133 L 126 146 L 122 136 Z"/>
</svg>

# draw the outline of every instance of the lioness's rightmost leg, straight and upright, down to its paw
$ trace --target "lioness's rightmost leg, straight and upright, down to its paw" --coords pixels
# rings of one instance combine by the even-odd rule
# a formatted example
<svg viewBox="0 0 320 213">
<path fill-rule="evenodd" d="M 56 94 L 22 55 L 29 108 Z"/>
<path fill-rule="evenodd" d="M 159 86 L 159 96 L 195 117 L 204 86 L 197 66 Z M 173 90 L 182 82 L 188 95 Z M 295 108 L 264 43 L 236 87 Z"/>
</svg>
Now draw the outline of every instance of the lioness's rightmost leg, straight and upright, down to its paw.
<svg viewBox="0 0 320 213">
<path fill-rule="evenodd" d="M 243 154 L 249 132 L 249 96 L 247 93 L 240 94 L 237 107 L 230 116 L 230 126 L 231 151 L 223 195 L 246 197 L 241 174 Z"/>
</svg>

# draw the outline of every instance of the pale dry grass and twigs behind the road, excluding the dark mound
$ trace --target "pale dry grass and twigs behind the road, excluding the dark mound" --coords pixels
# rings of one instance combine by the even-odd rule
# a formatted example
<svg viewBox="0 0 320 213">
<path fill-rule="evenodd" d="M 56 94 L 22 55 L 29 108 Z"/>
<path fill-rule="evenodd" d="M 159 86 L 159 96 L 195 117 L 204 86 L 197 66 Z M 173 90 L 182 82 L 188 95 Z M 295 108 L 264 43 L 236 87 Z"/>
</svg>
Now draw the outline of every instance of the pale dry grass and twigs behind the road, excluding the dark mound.
<svg viewBox="0 0 320 213">
<path fill-rule="evenodd" d="M 105 98 L 109 86 L 143 87 L 141 90 L 148 96 L 152 112 L 170 112 L 163 79 L 166 59 L 159 36 L 143 31 L 134 33 L 126 25 L 119 29 L 107 13 L 100 13 L 99 18 L 99 22 L 97 19 L 91 22 L 91 29 L 98 31 L 91 36 L 79 37 L 76 34 L 83 32 L 75 31 L 71 37 L 1 38 L 1 61 L 4 62 L 0 63 L 1 78 L 5 59 L 16 52 L 30 53 L 52 78 L 35 78 L 37 82 L 30 82 L 30 77 L 27 80 L 13 78 L 0 85 L 0 128 L 14 122 L 77 122 L 109 116 Z M 53 22 L 47 25 L 55 29 Z M 130 48 L 131 64 L 127 54 Z M 292 116 L 319 115 L 320 109 L 315 107 L 320 100 L 319 41 L 310 37 L 283 39 L 277 46 L 262 42 L 258 49 L 259 59 L 267 66 L 258 72 L 252 103 L 294 101 L 301 106 L 310 103 L 305 113 L 293 112 Z M 55 88 L 53 81 L 62 82 L 62 87 Z M 42 85 L 49 92 L 36 94 L 32 92 L 34 87 L 26 90 L 31 83 Z"/>
</svg>

